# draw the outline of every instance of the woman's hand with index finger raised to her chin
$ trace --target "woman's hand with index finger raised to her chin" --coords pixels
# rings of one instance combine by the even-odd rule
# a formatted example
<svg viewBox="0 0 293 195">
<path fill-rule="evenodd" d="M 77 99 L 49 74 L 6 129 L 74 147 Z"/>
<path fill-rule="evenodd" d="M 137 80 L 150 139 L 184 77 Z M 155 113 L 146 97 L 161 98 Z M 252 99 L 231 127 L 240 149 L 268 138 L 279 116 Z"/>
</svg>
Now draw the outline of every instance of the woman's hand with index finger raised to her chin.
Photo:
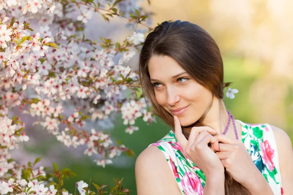
<svg viewBox="0 0 293 195">
<path fill-rule="evenodd" d="M 184 154 L 200 168 L 206 176 L 223 175 L 224 166 L 214 153 L 219 151 L 219 143 L 212 135 L 217 131 L 210 127 L 192 127 L 188 140 L 182 134 L 178 117 L 174 116 L 175 137 Z M 209 148 L 208 144 L 211 144 Z"/>
</svg>

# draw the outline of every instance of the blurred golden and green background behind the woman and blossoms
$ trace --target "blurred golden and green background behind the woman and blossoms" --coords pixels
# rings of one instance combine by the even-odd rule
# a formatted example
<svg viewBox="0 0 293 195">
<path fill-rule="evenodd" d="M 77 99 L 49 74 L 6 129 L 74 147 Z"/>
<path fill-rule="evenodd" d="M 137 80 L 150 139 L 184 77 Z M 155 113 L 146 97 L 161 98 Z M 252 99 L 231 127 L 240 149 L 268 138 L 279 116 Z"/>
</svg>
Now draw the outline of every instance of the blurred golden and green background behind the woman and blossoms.
<svg viewBox="0 0 293 195">
<path fill-rule="evenodd" d="M 225 69 L 225 82 L 239 93 L 234 99 L 225 99 L 226 106 L 237 119 L 247 123 L 270 123 L 286 131 L 293 140 L 293 1 L 292 0 L 151 0 L 139 4 L 154 12 L 152 26 L 165 20 L 188 20 L 206 29 L 220 47 Z M 129 8 L 130 9 L 130 8 Z M 99 32 L 99 33 L 97 33 Z M 120 40 L 133 33 L 122 20 L 105 23 L 96 15 L 87 24 L 87 37 L 100 36 Z M 137 69 L 138 56 L 130 60 Z M 30 120 L 30 117 L 27 117 Z M 159 118 L 132 135 L 118 117 L 108 125 L 113 138 L 119 138 L 138 156 L 150 143 L 158 141 L 170 130 Z M 77 174 L 66 180 L 65 188 L 74 193 L 75 181 L 89 178 L 98 184 L 113 185 L 113 178 L 124 177 L 123 184 L 136 195 L 135 158 L 125 154 L 105 169 L 98 167 L 84 148 L 67 148 L 55 137 L 38 126 L 27 131 L 30 141 L 23 149 L 15 150 L 13 157 L 33 161 L 43 156 L 42 165 L 55 162 Z M 44 142 L 40 137 L 47 137 Z M 42 141 L 41 141 L 42 140 Z"/>
</svg>

